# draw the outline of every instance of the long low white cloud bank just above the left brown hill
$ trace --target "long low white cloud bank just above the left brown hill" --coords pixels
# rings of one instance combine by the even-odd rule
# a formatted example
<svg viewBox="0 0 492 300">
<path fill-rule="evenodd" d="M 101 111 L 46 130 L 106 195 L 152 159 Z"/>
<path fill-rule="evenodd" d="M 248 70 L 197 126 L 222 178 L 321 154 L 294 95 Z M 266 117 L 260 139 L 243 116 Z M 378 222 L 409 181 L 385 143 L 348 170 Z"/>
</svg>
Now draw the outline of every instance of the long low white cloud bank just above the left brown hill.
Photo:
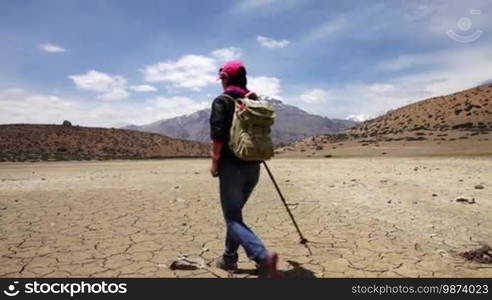
<svg viewBox="0 0 492 300">
<path fill-rule="evenodd" d="M 189 114 L 209 105 L 206 101 L 187 97 L 154 97 L 139 102 L 93 102 L 7 89 L 0 90 L 0 124 L 61 124 L 64 120 L 81 126 L 148 124 Z"/>
</svg>

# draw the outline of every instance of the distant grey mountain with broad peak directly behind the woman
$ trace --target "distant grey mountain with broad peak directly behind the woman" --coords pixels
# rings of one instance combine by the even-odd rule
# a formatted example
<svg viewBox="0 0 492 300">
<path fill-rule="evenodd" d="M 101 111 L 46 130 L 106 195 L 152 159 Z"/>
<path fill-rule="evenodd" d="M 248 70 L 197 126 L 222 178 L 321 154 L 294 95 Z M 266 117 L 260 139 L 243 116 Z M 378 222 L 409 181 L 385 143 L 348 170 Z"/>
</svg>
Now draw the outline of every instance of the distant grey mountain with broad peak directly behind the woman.
<svg viewBox="0 0 492 300">
<path fill-rule="evenodd" d="M 276 109 L 277 115 L 272 127 L 272 139 L 277 144 L 322 133 L 340 132 L 357 124 L 354 121 L 313 115 L 277 99 L 264 99 L 270 101 Z M 124 128 L 205 142 L 210 139 L 209 118 L 210 109 L 203 109 L 189 115 L 160 120 L 142 126 L 129 125 Z"/>
</svg>

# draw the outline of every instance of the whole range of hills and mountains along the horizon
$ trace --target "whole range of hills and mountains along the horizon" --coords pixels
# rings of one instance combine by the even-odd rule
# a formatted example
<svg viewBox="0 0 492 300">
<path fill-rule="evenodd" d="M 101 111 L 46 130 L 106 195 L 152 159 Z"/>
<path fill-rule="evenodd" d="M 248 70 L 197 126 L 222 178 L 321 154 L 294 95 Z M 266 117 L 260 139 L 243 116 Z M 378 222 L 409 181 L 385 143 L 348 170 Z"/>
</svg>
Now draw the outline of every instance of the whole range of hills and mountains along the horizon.
<svg viewBox="0 0 492 300">
<path fill-rule="evenodd" d="M 361 123 L 268 101 L 277 111 L 272 135 L 279 157 L 492 154 L 492 84 L 424 99 Z M 127 127 L 134 130 L 68 121 L 0 125 L 0 161 L 207 157 L 210 144 L 200 141 L 209 139 L 209 115 L 204 109 Z"/>
</svg>

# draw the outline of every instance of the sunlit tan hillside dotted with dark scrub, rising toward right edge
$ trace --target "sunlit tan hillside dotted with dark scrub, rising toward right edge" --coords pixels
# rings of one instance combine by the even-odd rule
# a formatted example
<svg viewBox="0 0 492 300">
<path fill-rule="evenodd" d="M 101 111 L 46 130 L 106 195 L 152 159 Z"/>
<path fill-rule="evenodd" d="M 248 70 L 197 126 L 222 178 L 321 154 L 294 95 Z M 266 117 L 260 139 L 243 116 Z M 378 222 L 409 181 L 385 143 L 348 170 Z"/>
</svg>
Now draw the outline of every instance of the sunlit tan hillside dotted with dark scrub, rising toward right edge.
<svg viewBox="0 0 492 300">
<path fill-rule="evenodd" d="M 492 154 L 492 84 L 422 100 L 339 134 L 317 135 L 284 156 Z"/>
</svg>

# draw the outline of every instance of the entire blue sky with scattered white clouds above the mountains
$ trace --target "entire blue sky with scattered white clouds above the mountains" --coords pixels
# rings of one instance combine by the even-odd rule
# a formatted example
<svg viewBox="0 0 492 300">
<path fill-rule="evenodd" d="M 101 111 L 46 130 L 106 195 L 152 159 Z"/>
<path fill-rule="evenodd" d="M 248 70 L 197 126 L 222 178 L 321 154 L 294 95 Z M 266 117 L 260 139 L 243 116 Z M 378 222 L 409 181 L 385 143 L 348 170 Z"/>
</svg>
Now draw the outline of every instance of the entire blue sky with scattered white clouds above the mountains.
<svg viewBox="0 0 492 300">
<path fill-rule="evenodd" d="M 481 1 L 0 2 L 0 123 L 143 124 L 209 107 L 217 68 L 364 119 L 492 78 Z"/>
</svg>

